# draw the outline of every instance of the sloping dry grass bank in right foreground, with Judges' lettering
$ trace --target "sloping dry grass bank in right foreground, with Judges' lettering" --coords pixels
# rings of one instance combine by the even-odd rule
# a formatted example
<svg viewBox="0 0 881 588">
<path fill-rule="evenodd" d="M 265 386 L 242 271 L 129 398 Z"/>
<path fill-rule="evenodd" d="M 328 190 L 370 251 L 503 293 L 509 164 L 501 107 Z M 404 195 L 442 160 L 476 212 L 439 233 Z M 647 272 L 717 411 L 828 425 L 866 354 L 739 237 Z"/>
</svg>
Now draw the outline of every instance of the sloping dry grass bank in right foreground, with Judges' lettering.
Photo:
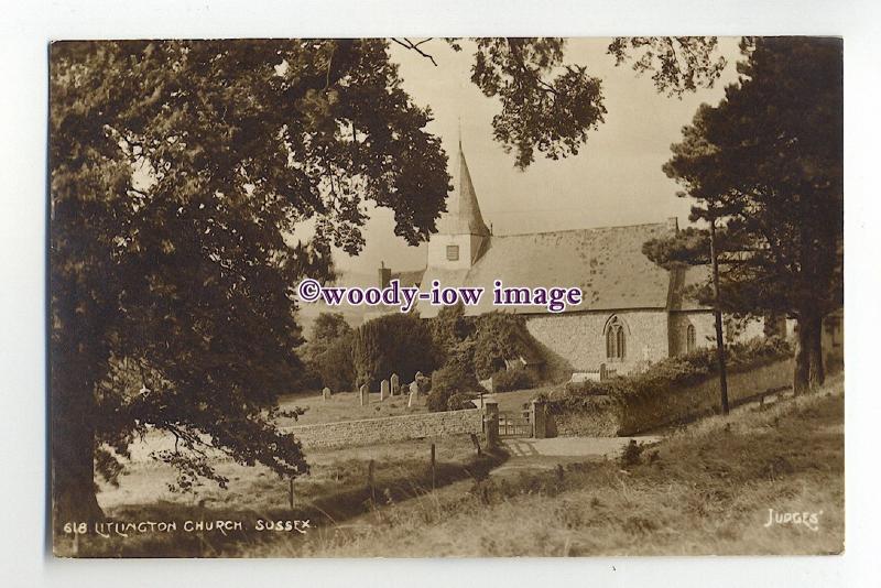
<svg viewBox="0 0 881 588">
<path fill-rule="evenodd" d="M 639 464 L 490 476 L 259 555 L 834 554 L 844 549 L 844 382 L 696 423 Z M 454 490 L 453 488 L 449 489 Z M 765 527 L 768 509 L 820 512 L 818 531 Z"/>
</svg>

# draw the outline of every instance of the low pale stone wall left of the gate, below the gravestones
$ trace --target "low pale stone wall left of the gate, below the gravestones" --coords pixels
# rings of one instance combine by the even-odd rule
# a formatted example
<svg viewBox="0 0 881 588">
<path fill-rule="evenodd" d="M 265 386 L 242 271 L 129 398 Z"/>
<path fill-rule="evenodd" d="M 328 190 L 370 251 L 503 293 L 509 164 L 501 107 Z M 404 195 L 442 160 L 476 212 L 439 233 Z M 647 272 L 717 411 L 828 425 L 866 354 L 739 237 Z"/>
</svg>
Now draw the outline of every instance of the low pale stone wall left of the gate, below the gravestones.
<svg viewBox="0 0 881 588">
<path fill-rule="evenodd" d="M 339 421 L 314 425 L 284 427 L 293 433 L 303 447 L 308 449 L 333 449 L 378 445 L 382 443 L 444 437 L 447 435 L 481 434 L 483 411 L 469 409 L 440 413 L 405 414 L 361 421 Z"/>
</svg>

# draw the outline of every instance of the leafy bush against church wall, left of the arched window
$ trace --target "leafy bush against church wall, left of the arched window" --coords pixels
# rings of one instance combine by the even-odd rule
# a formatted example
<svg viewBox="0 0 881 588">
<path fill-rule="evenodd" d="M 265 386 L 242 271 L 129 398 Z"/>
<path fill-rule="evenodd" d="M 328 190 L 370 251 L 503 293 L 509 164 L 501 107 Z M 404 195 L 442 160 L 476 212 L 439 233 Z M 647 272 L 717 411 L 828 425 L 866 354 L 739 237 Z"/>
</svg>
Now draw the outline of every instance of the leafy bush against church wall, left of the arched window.
<svg viewBox="0 0 881 588">
<path fill-rule="evenodd" d="M 520 315 L 487 313 L 477 320 L 475 372 L 480 380 L 505 368 L 505 359 L 537 355 L 532 335 Z"/>
</svg>

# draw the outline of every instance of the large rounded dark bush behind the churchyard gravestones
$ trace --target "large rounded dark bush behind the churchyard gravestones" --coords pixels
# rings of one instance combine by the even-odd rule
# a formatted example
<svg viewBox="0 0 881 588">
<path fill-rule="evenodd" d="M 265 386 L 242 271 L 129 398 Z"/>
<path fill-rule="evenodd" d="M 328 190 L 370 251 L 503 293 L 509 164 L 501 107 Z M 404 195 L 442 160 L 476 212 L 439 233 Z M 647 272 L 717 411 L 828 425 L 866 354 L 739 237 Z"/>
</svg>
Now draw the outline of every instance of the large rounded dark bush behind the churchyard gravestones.
<svg viewBox="0 0 881 588">
<path fill-rule="evenodd" d="M 352 345 L 356 384 L 378 390 L 380 381 L 398 373 L 411 382 L 416 372 L 438 363 L 427 325 L 418 316 L 394 313 L 368 320 L 355 331 Z M 418 382 L 417 382 L 418 384 Z"/>
</svg>

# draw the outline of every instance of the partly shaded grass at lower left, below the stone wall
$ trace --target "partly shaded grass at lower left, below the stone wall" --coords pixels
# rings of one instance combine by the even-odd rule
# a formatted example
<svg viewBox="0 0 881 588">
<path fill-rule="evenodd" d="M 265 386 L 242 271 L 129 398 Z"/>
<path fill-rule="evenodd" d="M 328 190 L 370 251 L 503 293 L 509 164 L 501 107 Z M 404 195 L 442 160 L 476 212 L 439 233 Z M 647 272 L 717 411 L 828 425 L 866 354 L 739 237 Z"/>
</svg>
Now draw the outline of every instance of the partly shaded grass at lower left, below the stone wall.
<svg viewBox="0 0 881 588">
<path fill-rule="evenodd" d="M 434 484 L 440 489 L 463 479 L 486 477 L 507 455 L 476 456 L 468 437 L 435 440 Z M 140 451 L 141 454 L 145 450 Z M 338 526 L 383 504 L 431 492 L 431 442 L 412 440 L 372 447 L 312 451 L 312 471 L 294 482 L 290 505 L 289 481 L 263 467 L 243 467 L 229 460 L 216 464 L 229 478 L 229 488 L 204 486 L 196 493 L 168 490 L 174 471 L 149 459 L 131 464 L 119 487 L 104 486 L 99 502 L 113 521 L 241 521 L 243 532 L 149 533 L 128 538 L 94 535 L 56 537 L 55 553 L 91 557 L 249 556 L 283 542 L 298 542 L 297 533 L 258 532 L 257 521 L 308 520 L 313 527 Z M 373 483 L 369 486 L 370 464 Z"/>
</svg>

